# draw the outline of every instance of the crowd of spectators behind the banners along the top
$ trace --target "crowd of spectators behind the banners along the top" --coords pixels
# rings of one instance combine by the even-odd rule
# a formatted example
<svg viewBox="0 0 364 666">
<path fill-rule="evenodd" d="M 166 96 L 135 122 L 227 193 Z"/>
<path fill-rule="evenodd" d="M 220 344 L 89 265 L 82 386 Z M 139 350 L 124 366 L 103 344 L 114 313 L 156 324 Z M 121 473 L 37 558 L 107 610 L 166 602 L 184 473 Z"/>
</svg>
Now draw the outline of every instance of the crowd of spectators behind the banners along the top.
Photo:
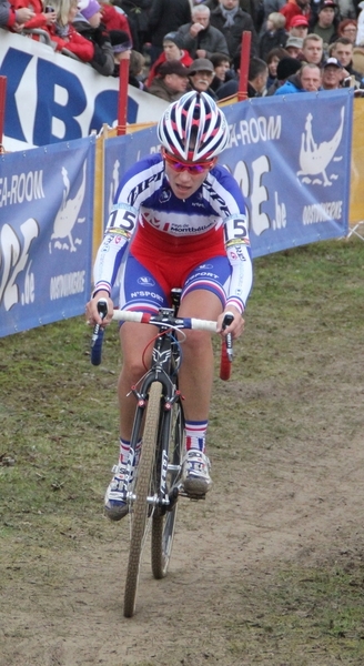
<svg viewBox="0 0 364 666">
<path fill-rule="evenodd" d="M 364 0 L 0 0 L 0 27 L 105 77 L 127 58 L 129 83 L 169 102 L 236 94 L 245 31 L 247 97 L 364 94 Z"/>
</svg>

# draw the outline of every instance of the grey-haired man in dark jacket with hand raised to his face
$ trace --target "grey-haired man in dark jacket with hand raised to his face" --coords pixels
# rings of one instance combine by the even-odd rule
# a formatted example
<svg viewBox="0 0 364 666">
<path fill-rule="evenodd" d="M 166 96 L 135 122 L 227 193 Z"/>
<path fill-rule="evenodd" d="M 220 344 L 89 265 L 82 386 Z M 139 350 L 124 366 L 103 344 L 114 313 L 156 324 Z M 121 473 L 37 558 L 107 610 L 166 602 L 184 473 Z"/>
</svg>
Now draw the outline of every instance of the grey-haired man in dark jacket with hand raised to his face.
<svg viewBox="0 0 364 666">
<path fill-rule="evenodd" d="M 194 58 L 211 58 L 212 53 L 229 57 L 226 40 L 222 32 L 210 24 L 210 9 L 205 4 L 192 8 L 192 21 L 181 26 L 184 48 Z"/>
</svg>

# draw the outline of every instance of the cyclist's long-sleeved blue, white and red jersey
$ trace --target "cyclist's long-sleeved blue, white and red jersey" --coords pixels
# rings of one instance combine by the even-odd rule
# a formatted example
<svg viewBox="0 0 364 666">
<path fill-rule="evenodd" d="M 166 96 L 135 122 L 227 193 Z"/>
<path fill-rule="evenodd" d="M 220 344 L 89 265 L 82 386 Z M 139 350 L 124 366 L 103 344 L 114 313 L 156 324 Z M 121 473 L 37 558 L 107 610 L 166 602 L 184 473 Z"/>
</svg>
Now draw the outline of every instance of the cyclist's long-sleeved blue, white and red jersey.
<svg viewBox="0 0 364 666">
<path fill-rule="evenodd" d="M 199 190 L 185 200 L 173 194 L 160 154 L 132 167 L 121 180 L 98 252 L 93 293 L 111 292 L 129 243 L 151 274 L 160 255 L 179 268 L 186 262 L 190 270 L 209 256 L 228 256 L 226 304 L 243 312 L 252 285 L 245 203 L 224 167 L 209 171 Z"/>
</svg>

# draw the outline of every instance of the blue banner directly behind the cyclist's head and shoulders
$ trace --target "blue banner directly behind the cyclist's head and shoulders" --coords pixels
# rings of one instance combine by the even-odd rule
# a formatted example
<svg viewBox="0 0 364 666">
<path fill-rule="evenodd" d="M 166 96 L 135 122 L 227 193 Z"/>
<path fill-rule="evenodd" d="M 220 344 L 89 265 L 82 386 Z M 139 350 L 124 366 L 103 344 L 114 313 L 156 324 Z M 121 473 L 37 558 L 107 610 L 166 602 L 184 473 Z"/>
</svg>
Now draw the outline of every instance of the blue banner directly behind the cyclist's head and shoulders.
<svg viewBox="0 0 364 666">
<path fill-rule="evenodd" d="M 352 91 L 337 90 L 223 109 L 231 142 L 220 162 L 245 196 L 254 256 L 347 234 L 352 105 Z M 158 150 L 155 128 L 105 142 L 105 220 L 120 175 Z"/>
</svg>

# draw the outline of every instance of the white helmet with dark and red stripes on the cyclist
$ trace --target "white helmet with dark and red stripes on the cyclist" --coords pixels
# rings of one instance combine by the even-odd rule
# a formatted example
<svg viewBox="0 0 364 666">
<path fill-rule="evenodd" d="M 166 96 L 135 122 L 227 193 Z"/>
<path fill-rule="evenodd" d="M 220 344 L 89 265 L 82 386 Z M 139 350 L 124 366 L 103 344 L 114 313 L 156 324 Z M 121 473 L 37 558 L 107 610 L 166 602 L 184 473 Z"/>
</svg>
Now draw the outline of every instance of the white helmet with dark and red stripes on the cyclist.
<svg viewBox="0 0 364 666">
<path fill-rule="evenodd" d="M 188 92 L 164 111 L 158 138 L 174 157 L 189 162 L 210 160 L 229 141 L 224 113 L 205 92 Z"/>
</svg>

